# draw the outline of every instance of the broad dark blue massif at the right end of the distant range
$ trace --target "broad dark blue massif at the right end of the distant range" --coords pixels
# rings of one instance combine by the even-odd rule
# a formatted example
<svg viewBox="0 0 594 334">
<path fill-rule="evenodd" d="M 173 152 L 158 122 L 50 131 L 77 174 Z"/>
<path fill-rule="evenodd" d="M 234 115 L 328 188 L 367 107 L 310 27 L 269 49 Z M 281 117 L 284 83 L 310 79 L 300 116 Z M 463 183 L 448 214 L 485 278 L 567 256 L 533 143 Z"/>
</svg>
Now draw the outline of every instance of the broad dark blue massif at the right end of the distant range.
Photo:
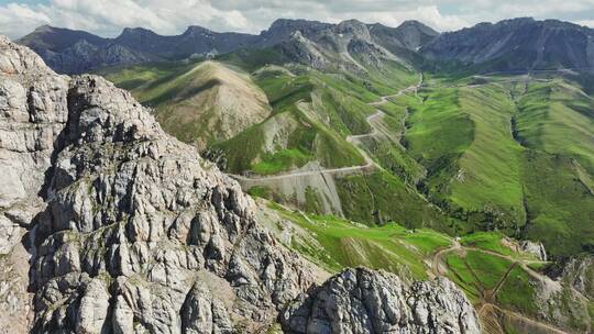
<svg viewBox="0 0 594 334">
<path fill-rule="evenodd" d="M 557 20 L 505 20 L 443 33 L 421 54 L 432 60 L 481 64 L 483 70 L 594 68 L 594 30 Z"/>
</svg>

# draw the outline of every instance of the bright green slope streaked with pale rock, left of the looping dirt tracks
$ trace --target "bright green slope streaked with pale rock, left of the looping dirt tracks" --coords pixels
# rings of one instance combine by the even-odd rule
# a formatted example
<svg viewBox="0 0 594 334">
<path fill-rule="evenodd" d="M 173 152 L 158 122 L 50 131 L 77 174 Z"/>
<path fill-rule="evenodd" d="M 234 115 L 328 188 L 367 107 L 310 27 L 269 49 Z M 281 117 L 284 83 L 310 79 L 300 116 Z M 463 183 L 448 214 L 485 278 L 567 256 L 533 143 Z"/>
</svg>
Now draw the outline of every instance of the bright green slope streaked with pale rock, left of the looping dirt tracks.
<svg viewBox="0 0 594 334">
<path fill-rule="evenodd" d="M 429 268 L 424 259 L 451 244 L 447 235 L 427 229 L 410 233 L 396 223 L 367 227 L 331 215 L 292 212 L 274 204 L 272 208 L 302 229 L 292 238 L 290 246 L 330 271 L 366 266 L 404 278 L 426 279 Z"/>
</svg>

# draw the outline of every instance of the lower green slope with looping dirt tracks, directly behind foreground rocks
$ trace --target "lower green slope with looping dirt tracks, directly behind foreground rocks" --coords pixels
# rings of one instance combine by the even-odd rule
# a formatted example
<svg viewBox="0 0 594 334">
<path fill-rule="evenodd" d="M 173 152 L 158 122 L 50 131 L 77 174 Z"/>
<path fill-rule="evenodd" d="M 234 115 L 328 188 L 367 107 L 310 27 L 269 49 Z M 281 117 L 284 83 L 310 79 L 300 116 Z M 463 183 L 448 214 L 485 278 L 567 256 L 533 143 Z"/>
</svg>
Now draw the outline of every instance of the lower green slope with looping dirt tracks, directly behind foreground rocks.
<svg viewBox="0 0 594 334">
<path fill-rule="evenodd" d="M 566 285 L 551 283 L 540 269 L 530 269 L 549 264 L 517 250 L 517 242 L 502 233 L 479 232 L 457 241 L 430 229 L 408 230 L 396 222 L 370 227 L 336 216 L 267 205 L 272 211 L 265 221 L 272 231 L 284 235 L 287 246 L 330 272 L 363 265 L 396 272 L 405 280 L 444 275 L 477 308 L 483 324 L 490 327 L 495 322 L 507 333 L 527 331 L 518 322 L 518 314 L 532 321 L 530 332 L 540 332 L 551 324 L 569 332 L 583 332 L 594 324 L 587 313 L 592 301 Z M 547 288 L 548 285 L 553 287 Z M 541 302 L 543 299 L 552 302 Z M 492 305 L 507 316 L 490 312 Z"/>
</svg>

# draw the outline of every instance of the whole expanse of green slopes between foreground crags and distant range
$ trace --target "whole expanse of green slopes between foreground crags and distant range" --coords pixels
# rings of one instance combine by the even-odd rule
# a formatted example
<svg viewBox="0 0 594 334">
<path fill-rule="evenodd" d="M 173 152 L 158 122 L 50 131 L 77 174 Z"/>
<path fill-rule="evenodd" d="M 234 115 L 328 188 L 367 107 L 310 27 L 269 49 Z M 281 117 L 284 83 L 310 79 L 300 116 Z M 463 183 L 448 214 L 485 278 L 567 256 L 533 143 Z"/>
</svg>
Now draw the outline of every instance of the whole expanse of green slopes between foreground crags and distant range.
<svg viewBox="0 0 594 334">
<path fill-rule="evenodd" d="M 271 201 L 258 200 L 270 227 L 328 271 L 447 276 L 487 333 L 591 331 L 591 294 L 547 276 L 594 249 L 594 100 L 581 81 L 351 57 L 362 68 L 268 49 L 108 75 Z M 257 116 L 226 132 L 229 114 Z M 552 261 L 515 238 L 542 242 Z"/>
</svg>

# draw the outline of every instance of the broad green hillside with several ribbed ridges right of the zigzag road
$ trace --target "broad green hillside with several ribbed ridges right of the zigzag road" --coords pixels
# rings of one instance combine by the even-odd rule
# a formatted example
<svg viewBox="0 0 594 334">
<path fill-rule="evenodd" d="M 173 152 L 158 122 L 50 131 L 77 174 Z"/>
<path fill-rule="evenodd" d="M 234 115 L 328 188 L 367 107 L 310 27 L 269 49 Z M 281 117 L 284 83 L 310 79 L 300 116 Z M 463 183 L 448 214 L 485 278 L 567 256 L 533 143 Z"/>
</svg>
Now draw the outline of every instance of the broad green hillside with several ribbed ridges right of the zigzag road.
<svg viewBox="0 0 594 334">
<path fill-rule="evenodd" d="M 468 229 L 542 240 L 552 255 L 586 249 L 592 98 L 560 79 L 437 82 L 409 104 L 405 136 L 428 198 Z"/>
</svg>

